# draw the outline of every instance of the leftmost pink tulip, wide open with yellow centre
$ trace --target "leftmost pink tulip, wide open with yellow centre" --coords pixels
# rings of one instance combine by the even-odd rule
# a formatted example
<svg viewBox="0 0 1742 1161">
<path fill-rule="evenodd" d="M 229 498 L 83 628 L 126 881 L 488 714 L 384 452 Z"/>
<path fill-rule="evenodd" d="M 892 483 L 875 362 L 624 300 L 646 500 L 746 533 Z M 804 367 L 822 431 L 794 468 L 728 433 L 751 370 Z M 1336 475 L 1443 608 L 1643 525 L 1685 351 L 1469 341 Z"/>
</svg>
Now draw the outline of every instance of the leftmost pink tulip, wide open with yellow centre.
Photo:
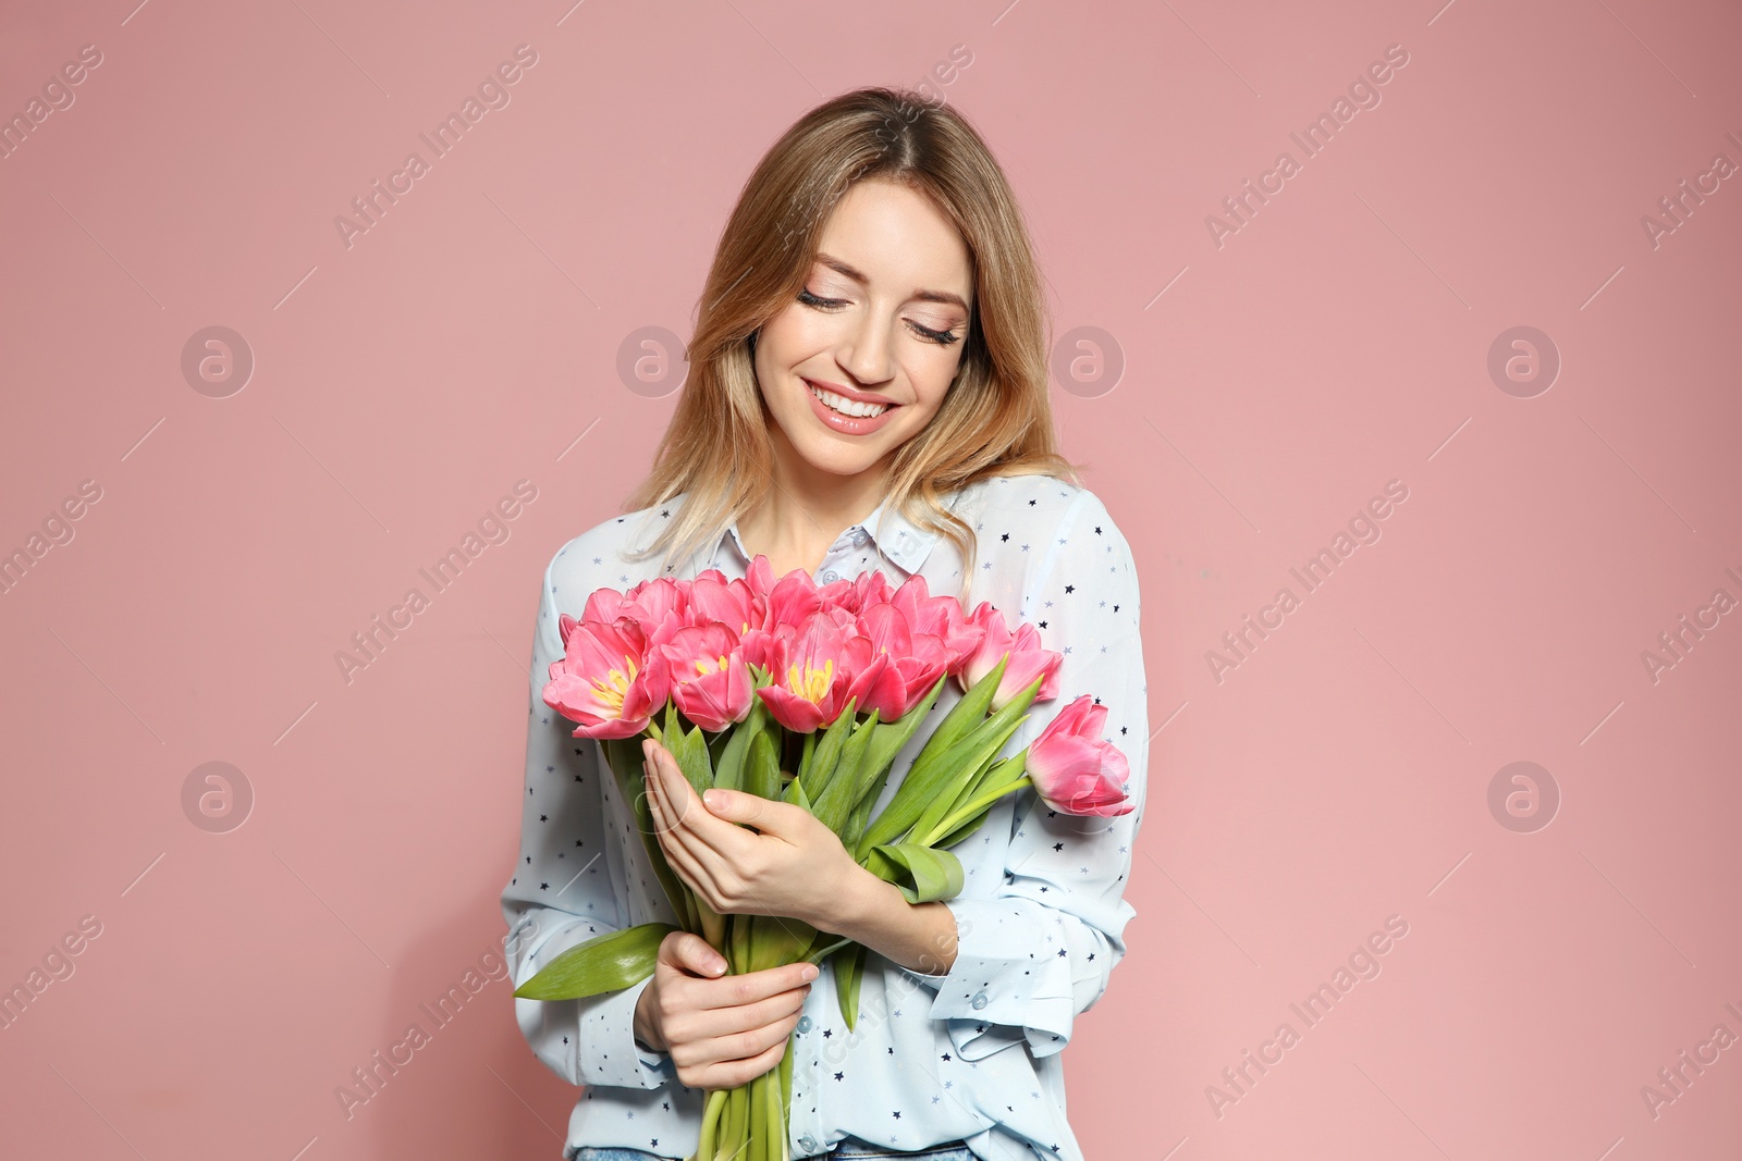
<svg viewBox="0 0 1742 1161">
<path fill-rule="evenodd" d="M 544 703 L 580 722 L 577 738 L 632 738 L 646 729 L 665 705 L 669 677 L 641 627 L 629 616 L 577 621 L 564 613 L 557 628 L 563 656 L 550 661 Z"/>
</svg>

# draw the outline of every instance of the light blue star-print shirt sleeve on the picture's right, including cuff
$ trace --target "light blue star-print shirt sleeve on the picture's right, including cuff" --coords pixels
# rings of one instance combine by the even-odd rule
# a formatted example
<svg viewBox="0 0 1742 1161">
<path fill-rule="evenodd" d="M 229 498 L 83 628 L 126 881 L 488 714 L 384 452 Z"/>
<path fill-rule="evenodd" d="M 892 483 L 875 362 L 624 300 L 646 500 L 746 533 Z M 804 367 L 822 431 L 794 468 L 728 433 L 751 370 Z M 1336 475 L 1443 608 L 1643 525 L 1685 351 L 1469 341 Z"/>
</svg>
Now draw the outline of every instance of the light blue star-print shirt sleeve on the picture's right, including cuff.
<svg viewBox="0 0 1742 1161">
<path fill-rule="evenodd" d="M 1019 790 L 1002 888 L 991 898 L 946 900 L 956 917 L 949 971 L 895 964 L 935 990 L 930 1015 L 948 1022 L 963 1060 L 1024 1039 L 1035 1057 L 1061 1051 L 1075 1018 L 1106 992 L 1136 914 L 1124 889 L 1143 822 L 1150 740 L 1136 564 L 1106 507 L 1087 489 L 1054 540 L 1057 554 L 1031 583 L 1023 620 L 1036 627 L 1045 648 L 1064 654 L 1059 696 L 1030 708 L 1007 752 L 1028 745 L 1087 693 L 1108 707 L 1103 735 L 1131 766 L 1125 792 L 1134 809 L 1113 818 L 1061 815 L 1033 787 Z M 984 825 L 998 816 L 993 811 Z"/>
</svg>

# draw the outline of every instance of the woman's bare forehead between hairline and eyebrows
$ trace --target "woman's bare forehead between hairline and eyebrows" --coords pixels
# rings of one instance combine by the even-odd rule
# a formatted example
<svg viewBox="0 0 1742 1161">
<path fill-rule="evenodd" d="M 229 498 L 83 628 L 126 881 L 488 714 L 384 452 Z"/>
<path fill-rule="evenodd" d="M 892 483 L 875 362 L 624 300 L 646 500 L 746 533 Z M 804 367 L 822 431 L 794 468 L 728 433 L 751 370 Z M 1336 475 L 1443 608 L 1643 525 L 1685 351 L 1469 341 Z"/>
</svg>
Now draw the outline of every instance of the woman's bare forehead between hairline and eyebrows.
<svg viewBox="0 0 1742 1161">
<path fill-rule="evenodd" d="M 819 249 L 881 289 L 955 291 L 969 298 L 974 259 L 955 223 L 923 193 L 894 181 L 859 181 L 822 225 Z"/>
</svg>

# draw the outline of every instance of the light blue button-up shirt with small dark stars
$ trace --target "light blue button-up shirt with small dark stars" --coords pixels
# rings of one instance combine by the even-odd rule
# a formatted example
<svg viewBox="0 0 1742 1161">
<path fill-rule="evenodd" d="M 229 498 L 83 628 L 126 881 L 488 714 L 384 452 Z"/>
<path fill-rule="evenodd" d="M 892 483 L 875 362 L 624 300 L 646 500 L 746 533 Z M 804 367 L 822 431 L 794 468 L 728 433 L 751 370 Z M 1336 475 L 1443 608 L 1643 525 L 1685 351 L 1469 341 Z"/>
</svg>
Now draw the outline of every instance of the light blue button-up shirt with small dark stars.
<svg viewBox="0 0 1742 1161">
<path fill-rule="evenodd" d="M 1036 701 L 1003 748 L 1017 754 L 1078 695 L 1108 707 L 1104 736 L 1131 762 L 1136 809 L 1117 818 L 1057 815 L 1033 789 L 1005 795 L 953 849 L 965 886 L 948 900 L 956 957 L 925 975 L 871 952 L 857 1027 L 848 1032 L 824 964 L 798 1022 L 793 1051 L 793 1158 L 829 1152 L 852 1135 L 913 1152 L 965 1140 L 976 1158 L 1082 1159 L 1064 1117 L 1059 1051 L 1078 1015 L 1106 990 L 1125 954 L 1136 910 L 1124 898 L 1148 766 L 1148 707 L 1131 545 L 1101 500 L 1052 477 L 993 477 L 948 498 L 977 536 L 967 609 L 991 601 L 1014 627 L 1030 621 L 1042 644 L 1064 654 L 1059 696 Z M 573 722 L 540 696 L 563 654 L 557 618 L 580 616 L 599 587 L 627 590 L 676 576 L 645 547 L 683 503 L 613 517 L 568 541 L 545 571 L 535 627 L 531 712 L 521 856 L 502 893 L 519 987 L 568 947 L 646 921 L 678 923 L 660 891 L 629 806 L 617 794 L 599 743 L 573 738 Z M 742 578 L 749 557 L 737 524 L 686 562 Z M 881 569 L 890 587 L 922 574 L 930 594 L 958 595 L 963 559 L 948 538 L 920 529 L 885 501 L 841 533 L 815 573 L 819 583 Z M 946 682 L 932 714 L 960 691 Z M 925 729 L 890 771 L 873 815 L 894 795 Z M 650 976 L 652 980 L 652 976 Z M 580 1145 L 618 1145 L 665 1158 L 697 1147 L 704 1091 L 678 1081 L 665 1053 L 634 1039 L 636 987 L 570 1001 L 516 999 L 516 1020 L 540 1060 L 585 1086 L 563 1156 Z"/>
</svg>

